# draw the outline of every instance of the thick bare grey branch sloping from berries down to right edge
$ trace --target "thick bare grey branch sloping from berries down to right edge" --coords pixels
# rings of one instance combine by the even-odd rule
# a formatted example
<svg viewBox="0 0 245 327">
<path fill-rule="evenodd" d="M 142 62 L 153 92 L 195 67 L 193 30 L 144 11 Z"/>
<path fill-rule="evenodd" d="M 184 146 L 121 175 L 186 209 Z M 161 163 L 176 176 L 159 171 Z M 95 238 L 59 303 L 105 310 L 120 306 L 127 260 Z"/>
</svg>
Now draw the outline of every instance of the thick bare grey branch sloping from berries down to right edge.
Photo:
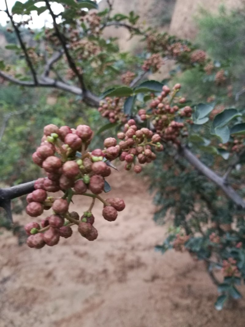
<svg viewBox="0 0 245 327">
<path fill-rule="evenodd" d="M 227 184 L 227 182 L 217 175 L 214 171 L 208 168 L 204 163 L 202 163 L 187 147 L 180 146 L 179 153 L 198 171 L 200 171 L 204 176 L 213 181 L 218 185 L 221 190 L 225 193 L 227 198 L 230 198 L 236 205 L 238 209 L 245 209 L 245 201 L 237 194 L 237 192 Z"/>
</svg>

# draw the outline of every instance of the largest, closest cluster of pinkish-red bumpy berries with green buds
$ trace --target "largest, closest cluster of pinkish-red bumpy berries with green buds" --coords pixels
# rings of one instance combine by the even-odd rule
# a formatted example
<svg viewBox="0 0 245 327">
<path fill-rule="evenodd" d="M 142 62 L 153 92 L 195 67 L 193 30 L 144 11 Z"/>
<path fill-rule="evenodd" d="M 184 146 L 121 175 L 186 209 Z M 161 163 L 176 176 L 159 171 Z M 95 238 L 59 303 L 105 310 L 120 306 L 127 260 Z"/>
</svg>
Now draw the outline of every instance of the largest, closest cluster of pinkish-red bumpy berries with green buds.
<svg viewBox="0 0 245 327">
<path fill-rule="evenodd" d="M 83 237 L 95 240 L 98 232 L 93 226 L 92 208 L 96 199 L 104 204 L 102 215 L 108 221 L 114 221 L 118 211 L 124 209 L 123 199 L 104 200 L 99 195 L 104 191 L 105 177 L 111 173 L 109 160 L 119 155 L 120 147 L 116 147 L 115 139 L 107 138 L 105 150 L 94 149 L 90 152 L 88 146 L 92 136 L 93 132 L 87 125 L 79 125 L 76 129 L 68 126 L 58 128 L 53 124 L 44 127 L 41 145 L 32 158 L 34 163 L 44 169 L 47 177 L 35 181 L 35 190 L 26 198 L 26 213 L 31 217 L 38 217 L 49 209 L 52 209 L 52 213 L 42 219 L 41 225 L 30 222 L 25 226 L 29 247 L 40 249 L 45 244 L 54 246 L 60 237 L 72 235 L 73 225 L 78 226 L 78 232 Z M 47 194 L 59 190 L 64 193 L 61 198 Z M 90 208 L 81 217 L 77 212 L 69 212 L 74 195 L 92 198 Z"/>
</svg>

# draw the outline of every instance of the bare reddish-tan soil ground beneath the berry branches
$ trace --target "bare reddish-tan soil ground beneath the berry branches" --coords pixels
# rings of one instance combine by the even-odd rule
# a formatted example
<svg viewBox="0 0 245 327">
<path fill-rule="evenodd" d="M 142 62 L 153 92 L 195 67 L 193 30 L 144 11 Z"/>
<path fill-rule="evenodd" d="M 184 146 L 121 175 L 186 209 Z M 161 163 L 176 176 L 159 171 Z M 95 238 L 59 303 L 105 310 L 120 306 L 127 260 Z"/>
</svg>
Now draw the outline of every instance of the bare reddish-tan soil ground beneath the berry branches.
<svg viewBox="0 0 245 327">
<path fill-rule="evenodd" d="M 147 182 L 113 175 L 111 196 L 124 198 L 126 209 L 107 222 L 96 205 L 96 241 L 73 227 L 70 239 L 34 250 L 19 247 L 11 232 L 0 235 L 0 327 L 245 326 L 244 300 L 235 309 L 214 309 L 217 290 L 202 262 L 154 251 L 167 226 L 152 220 Z M 74 208 L 82 212 L 90 199 L 79 201 Z"/>
</svg>

